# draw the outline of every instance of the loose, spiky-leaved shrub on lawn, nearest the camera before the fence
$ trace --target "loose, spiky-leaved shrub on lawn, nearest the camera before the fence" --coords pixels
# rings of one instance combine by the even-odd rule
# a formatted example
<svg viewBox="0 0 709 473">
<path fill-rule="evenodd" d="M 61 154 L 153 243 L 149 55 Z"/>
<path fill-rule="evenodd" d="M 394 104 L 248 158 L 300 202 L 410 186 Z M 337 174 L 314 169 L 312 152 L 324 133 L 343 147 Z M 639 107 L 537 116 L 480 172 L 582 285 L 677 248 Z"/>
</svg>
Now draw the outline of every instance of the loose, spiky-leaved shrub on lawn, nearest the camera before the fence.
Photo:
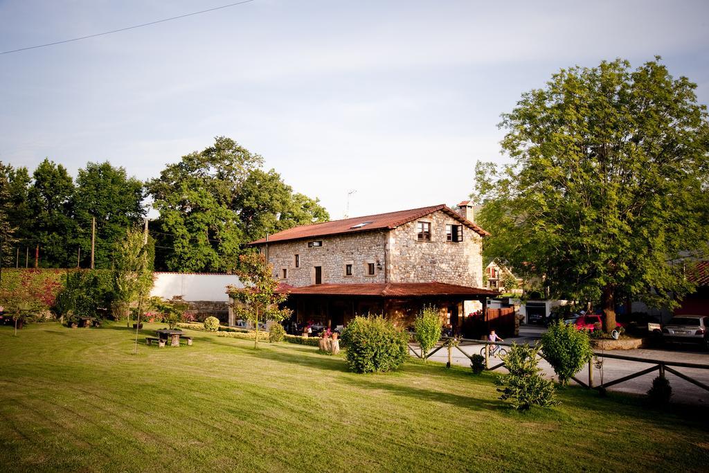
<svg viewBox="0 0 709 473">
<path fill-rule="evenodd" d="M 502 357 L 509 374 L 503 374 L 496 379 L 501 392 L 500 399 L 512 400 L 512 406 L 518 411 L 524 411 L 532 406 L 549 407 L 557 404 L 554 393 L 554 383 L 544 379 L 537 366 L 537 353 L 540 347 L 535 345 L 516 345 L 510 347 L 507 355 Z"/>
</svg>

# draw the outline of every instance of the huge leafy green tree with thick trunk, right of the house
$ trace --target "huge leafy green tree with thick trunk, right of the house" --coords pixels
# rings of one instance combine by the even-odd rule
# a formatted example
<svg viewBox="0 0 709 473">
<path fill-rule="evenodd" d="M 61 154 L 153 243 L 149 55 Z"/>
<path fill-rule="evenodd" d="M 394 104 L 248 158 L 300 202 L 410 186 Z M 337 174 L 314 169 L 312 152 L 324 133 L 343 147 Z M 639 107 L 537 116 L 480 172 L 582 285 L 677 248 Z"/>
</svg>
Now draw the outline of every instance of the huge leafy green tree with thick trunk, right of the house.
<svg viewBox="0 0 709 473">
<path fill-rule="evenodd" d="M 479 163 L 485 251 L 555 296 L 674 304 L 691 289 L 676 258 L 709 240 L 709 126 L 696 85 L 659 58 L 572 67 L 503 115 L 512 163 Z"/>
</svg>

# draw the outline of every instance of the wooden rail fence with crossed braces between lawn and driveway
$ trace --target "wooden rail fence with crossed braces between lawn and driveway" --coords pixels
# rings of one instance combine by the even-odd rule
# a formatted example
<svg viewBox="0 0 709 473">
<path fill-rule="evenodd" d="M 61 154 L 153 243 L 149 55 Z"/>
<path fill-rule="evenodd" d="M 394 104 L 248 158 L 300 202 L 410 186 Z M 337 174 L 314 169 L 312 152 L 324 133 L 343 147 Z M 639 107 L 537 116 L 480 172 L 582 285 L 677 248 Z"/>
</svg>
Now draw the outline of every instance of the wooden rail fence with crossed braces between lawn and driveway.
<svg viewBox="0 0 709 473">
<path fill-rule="evenodd" d="M 426 353 L 426 355 L 422 355 L 421 353 L 416 352 L 415 348 L 411 347 L 411 345 L 408 345 L 408 349 L 413 352 L 414 355 L 421 359 L 426 359 L 432 356 L 435 352 L 438 350 L 441 350 L 442 348 L 446 347 L 445 341 L 448 340 L 447 337 L 442 338 L 443 342 L 441 345 L 438 345 L 435 347 L 433 350 L 430 352 Z M 468 353 L 464 352 L 461 347 L 469 347 L 472 345 L 484 345 L 485 350 L 484 350 L 484 357 L 485 357 L 485 369 L 488 371 L 493 371 L 494 369 L 498 368 L 503 368 L 505 367 L 504 362 L 500 362 L 497 365 L 490 366 L 490 345 L 501 345 L 501 346 L 506 346 L 510 347 L 512 345 L 515 345 L 514 343 L 510 342 L 489 342 L 487 340 L 471 340 L 469 338 L 459 338 L 459 345 L 454 345 L 452 347 L 449 347 L 449 360 L 450 360 L 450 351 L 453 348 L 457 348 L 459 352 L 461 352 L 463 355 L 465 355 L 469 360 L 472 361 L 472 355 L 469 355 Z M 542 350 L 539 352 L 539 357 L 542 358 L 542 360 L 545 360 L 548 362 L 548 360 L 544 357 L 544 347 L 542 347 Z M 594 360 L 591 360 L 588 362 L 588 383 L 585 383 L 581 381 L 580 379 L 576 377 L 571 377 L 571 379 L 574 380 L 577 384 L 580 384 L 581 386 L 584 386 L 585 388 L 588 389 L 605 389 L 610 386 L 615 386 L 615 384 L 620 384 L 626 381 L 630 381 L 630 379 L 635 379 L 637 377 L 644 376 L 645 374 L 649 374 L 655 371 L 659 372 L 659 377 L 664 378 L 665 373 L 671 373 L 674 374 L 676 377 L 679 377 L 681 379 L 684 379 L 686 382 L 689 382 L 691 384 L 694 384 L 695 386 L 698 386 L 702 389 L 705 389 L 706 391 L 709 391 L 709 385 L 704 384 L 703 382 L 698 381 L 697 379 L 693 379 L 692 377 L 688 376 L 687 374 L 684 374 L 682 372 L 677 371 L 675 368 L 691 368 L 691 369 L 709 369 L 709 365 L 701 365 L 699 363 L 685 363 L 685 362 L 669 362 L 669 361 L 664 361 L 664 360 L 652 360 L 649 358 L 640 358 L 640 357 L 629 357 L 625 355 L 613 355 L 610 353 L 605 353 L 605 352 L 593 352 L 594 357 L 596 359 L 598 358 L 608 358 L 608 359 L 613 359 L 613 360 L 625 360 L 625 361 L 630 361 L 630 362 L 638 362 L 638 363 L 646 363 L 647 365 L 653 365 L 652 367 L 649 367 L 647 369 L 642 369 L 639 372 L 635 372 L 633 374 L 628 374 L 627 376 L 620 377 L 618 379 L 613 379 L 612 381 L 609 382 L 603 382 L 601 384 L 598 384 L 596 386 L 593 385 L 593 367 L 594 367 Z"/>
</svg>

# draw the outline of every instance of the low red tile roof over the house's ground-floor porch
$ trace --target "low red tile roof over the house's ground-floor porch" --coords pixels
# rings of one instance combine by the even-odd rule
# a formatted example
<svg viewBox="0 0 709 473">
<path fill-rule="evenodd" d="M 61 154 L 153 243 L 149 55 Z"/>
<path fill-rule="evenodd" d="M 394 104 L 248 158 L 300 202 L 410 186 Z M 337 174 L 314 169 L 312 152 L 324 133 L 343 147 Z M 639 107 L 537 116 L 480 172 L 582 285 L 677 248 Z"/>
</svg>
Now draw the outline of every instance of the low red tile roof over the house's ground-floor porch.
<svg viewBox="0 0 709 473">
<path fill-rule="evenodd" d="M 279 292 L 311 296 L 497 296 L 497 291 L 458 286 L 445 282 L 390 282 L 388 284 L 315 284 L 313 286 L 279 286 Z"/>
</svg>

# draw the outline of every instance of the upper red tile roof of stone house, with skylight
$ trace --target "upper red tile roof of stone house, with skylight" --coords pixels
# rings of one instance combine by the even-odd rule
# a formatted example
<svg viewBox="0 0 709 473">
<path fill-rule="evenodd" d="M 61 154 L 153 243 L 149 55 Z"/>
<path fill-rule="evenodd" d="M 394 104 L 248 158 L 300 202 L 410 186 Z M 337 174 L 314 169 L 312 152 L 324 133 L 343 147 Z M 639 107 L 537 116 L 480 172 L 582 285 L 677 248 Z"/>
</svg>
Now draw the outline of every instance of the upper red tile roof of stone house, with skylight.
<svg viewBox="0 0 709 473">
<path fill-rule="evenodd" d="M 467 221 L 451 208 L 440 204 L 437 206 L 412 208 L 411 210 L 379 213 L 364 217 L 345 218 L 344 220 L 333 220 L 325 223 L 313 223 L 311 225 L 289 228 L 288 230 L 274 233 L 274 235 L 269 235 L 268 242 L 266 238 L 261 238 L 260 240 L 252 241 L 249 245 L 262 245 L 263 243 L 300 240 L 302 238 L 317 238 L 329 235 L 344 235 L 369 230 L 391 230 L 398 226 L 402 226 L 404 223 L 409 223 L 435 211 L 443 211 L 447 213 L 449 216 L 455 218 L 457 221 L 463 223 L 465 226 L 471 228 L 481 236 L 489 235 L 489 233 L 477 226 L 475 223 Z"/>
</svg>

